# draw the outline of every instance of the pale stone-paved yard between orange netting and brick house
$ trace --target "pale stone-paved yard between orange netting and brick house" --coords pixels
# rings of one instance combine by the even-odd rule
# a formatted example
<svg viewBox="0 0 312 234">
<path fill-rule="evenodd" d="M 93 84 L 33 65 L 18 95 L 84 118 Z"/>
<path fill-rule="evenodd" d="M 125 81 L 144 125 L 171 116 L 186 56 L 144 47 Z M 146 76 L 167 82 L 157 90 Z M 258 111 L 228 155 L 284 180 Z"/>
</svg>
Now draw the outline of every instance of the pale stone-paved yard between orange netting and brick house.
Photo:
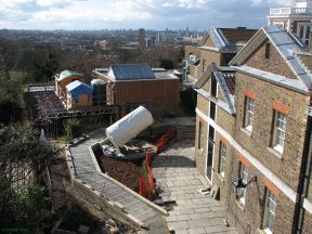
<svg viewBox="0 0 312 234">
<path fill-rule="evenodd" d="M 197 192 L 204 185 L 194 161 L 194 142 L 177 142 L 157 155 L 153 161 L 154 177 L 166 200 L 176 200 L 166 222 L 176 234 L 227 233 L 236 234 L 235 227 L 223 223 L 223 205 Z"/>
</svg>

